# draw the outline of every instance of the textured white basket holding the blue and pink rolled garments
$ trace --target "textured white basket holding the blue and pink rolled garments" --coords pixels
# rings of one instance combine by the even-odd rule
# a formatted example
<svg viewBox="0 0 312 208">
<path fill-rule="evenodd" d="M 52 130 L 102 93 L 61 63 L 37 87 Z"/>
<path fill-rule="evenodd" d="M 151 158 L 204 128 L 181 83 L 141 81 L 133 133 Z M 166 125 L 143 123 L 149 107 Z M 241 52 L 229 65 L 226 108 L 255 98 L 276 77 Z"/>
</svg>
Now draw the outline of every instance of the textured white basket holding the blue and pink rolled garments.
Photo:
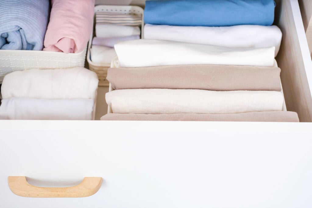
<svg viewBox="0 0 312 208">
<path fill-rule="evenodd" d="M 27 69 L 58 69 L 85 65 L 86 49 L 80 53 L 0 50 L 0 84 L 8 73 Z"/>
</svg>

